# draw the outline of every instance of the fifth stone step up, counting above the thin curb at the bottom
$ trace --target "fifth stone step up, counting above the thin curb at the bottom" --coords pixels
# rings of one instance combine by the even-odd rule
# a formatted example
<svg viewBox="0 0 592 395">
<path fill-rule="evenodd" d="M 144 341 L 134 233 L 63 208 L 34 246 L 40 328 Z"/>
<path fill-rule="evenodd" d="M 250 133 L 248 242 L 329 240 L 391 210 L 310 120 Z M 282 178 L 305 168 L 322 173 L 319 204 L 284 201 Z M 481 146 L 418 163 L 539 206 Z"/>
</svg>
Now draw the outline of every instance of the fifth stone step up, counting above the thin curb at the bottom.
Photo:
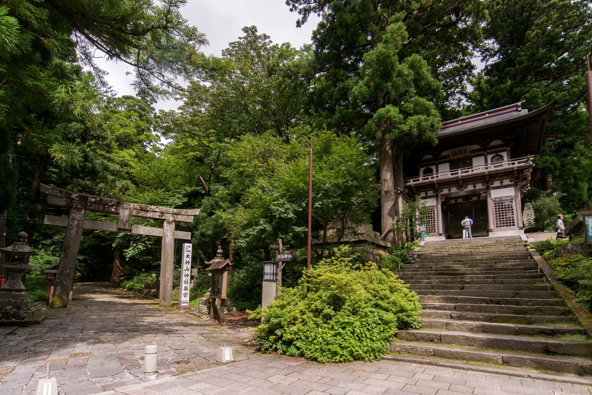
<svg viewBox="0 0 592 395">
<path fill-rule="evenodd" d="M 516 314 L 535 316 L 562 316 L 568 314 L 564 306 L 500 306 L 497 304 L 424 303 L 423 309 L 459 311 L 462 313 Z"/>
</svg>

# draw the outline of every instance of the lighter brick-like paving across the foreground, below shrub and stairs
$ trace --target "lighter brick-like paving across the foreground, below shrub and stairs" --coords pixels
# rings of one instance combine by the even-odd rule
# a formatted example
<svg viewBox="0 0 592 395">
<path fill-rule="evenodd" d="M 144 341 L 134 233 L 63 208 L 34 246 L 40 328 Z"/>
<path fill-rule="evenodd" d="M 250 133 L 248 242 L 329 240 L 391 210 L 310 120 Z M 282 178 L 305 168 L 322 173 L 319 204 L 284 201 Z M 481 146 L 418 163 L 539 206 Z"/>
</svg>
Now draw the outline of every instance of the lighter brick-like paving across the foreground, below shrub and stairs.
<svg viewBox="0 0 592 395">
<path fill-rule="evenodd" d="M 580 380 L 582 383 L 590 380 Z M 303 358 L 266 356 L 189 372 L 113 393 L 129 395 L 568 395 L 587 394 L 583 384 L 479 373 L 395 361 L 317 364 Z M 105 394 L 105 393 L 104 393 Z M 106 394 L 105 394 L 106 395 Z"/>
</svg>

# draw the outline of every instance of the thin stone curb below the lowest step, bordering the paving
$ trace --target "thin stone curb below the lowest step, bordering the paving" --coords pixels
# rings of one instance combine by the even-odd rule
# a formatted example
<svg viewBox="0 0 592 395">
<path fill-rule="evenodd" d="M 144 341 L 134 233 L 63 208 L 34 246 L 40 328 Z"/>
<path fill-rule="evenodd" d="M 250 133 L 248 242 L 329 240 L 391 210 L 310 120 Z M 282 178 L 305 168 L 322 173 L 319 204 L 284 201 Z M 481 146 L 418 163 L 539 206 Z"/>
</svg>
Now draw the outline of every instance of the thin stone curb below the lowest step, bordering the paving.
<svg viewBox="0 0 592 395">
<path fill-rule="evenodd" d="M 475 371 L 481 373 L 510 375 L 514 377 L 533 378 L 537 380 L 556 381 L 557 383 L 571 383 L 591 385 L 592 378 L 584 378 L 571 375 L 546 374 L 535 370 L 525 370 L 523 368 L 496 367 L 494 365 L 471 364 L 470 362 L 453 361 L 452 359 L 417 357 L 404 354 L 387 354 L 382 359 L 390 361 L 410 362 L 412 364 L 439 366 L 444 368 L 453 368 L 460 370 Z"/>
</svg>

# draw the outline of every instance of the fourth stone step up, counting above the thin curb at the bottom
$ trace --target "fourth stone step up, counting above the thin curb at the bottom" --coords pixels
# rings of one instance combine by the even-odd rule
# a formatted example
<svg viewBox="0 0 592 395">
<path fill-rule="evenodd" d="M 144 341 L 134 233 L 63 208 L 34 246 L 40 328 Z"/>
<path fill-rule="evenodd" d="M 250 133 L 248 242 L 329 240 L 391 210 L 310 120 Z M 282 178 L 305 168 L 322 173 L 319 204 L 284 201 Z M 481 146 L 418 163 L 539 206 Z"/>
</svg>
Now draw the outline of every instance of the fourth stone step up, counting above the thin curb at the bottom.
<svg viewBox="0 0 592 395">
<path fill-rule="evenodd" d="M 574 316 L 528 316 L 522 314 L 498 314 L 498 313 L 467 313 L 454 310 L 422 310 L 422 318 L 434 318 L 460 321 L 480 321 L 494 323 L 512 323 L 520 325 L 577 325 Z"/>
</svg>

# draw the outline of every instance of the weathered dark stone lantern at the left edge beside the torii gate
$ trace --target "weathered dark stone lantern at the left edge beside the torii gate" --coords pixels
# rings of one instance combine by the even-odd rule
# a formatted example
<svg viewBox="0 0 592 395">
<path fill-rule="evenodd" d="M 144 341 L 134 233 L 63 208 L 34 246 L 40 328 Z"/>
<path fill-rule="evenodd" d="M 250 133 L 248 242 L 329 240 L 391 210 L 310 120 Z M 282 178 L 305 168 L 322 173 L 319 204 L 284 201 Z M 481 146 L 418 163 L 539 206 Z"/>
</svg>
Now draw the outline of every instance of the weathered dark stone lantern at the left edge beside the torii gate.
<svg viewBox="0 0 592 395">
<path fill-rule="evenodd" d="M 40 315 L 41 309 L 33 308 L 33 302 L 29 300 L 22 284 L 22 277 L 31 271 L 29 258 L 31 255 L 39 255 L 38 252 L 27 245 L 27 233 L 18 234 L 18 239 L 7 248 L 0 248 L 7 257 L 2 268 L 8 272 L 8 281 L 5 282 L 0 292 L 0 323 L 2 321 L 30 321 Z"/>
</svg>

